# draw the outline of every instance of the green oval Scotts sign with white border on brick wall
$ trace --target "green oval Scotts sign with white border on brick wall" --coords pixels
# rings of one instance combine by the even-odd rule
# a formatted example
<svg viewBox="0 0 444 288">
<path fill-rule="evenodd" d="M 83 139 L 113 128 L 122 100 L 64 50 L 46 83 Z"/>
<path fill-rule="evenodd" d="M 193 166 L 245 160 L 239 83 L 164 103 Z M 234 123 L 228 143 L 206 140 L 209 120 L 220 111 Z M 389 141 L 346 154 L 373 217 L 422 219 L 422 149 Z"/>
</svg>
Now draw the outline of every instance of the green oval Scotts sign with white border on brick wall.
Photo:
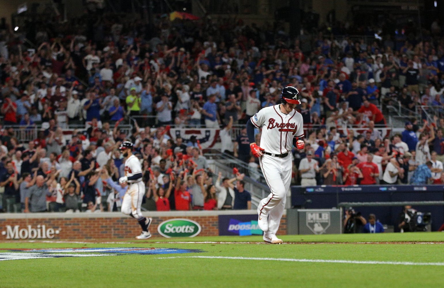
<svg viewBox="0 0 444 288">
<path fill-rule="evenodd" d="M 163 221 L 157 227 L 160 235 L 166 238 L 171 237 L 194 237 L 201 231 L 199 223 L 189 219 L 169 219 Z"/>
</svg>

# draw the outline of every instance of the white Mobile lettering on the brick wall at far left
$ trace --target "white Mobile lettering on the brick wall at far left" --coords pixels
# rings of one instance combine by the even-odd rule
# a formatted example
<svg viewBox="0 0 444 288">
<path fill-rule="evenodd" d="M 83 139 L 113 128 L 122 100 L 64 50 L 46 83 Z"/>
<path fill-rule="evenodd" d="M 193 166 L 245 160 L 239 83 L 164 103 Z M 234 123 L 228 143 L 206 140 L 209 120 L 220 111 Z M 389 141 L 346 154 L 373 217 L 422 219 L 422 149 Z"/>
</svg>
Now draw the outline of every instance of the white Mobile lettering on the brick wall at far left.
<svg viewBox="0 0 444 288">
<path fill-rule="evenodd" d="M 60 233 L 61 229 L 54 229 L 46 227 L 46 225 L 6 225 L 1 235 L 6 236 L 6 239 L 52 239 Z"/>
</svg>

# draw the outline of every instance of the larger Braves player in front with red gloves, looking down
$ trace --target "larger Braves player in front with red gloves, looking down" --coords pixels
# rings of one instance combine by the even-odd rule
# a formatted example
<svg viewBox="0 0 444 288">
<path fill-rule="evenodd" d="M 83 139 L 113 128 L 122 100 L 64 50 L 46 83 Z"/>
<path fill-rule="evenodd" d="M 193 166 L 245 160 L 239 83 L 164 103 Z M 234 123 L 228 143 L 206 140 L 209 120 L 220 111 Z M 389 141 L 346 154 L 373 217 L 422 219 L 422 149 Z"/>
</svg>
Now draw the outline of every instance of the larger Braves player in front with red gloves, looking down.
<svg viewBox="0 0 444 288">
<path fill-rule="evenodd" d="M 281 104 L 259 110 L 247 122 L 250 149 L 259 158 L 262 174 L 271 193 L 258 205 L 258 225 L 264 231 L 264 241 L 282 243 L 276 237 L 277 229 L 284 213 L 286 194 L 292 174 L 291 149 L 304 149 L 304 127 L 302 115 L 294 110 L 301 104 L 299 91 L 288 86 L 282 89 Z M 262 127 L 260 147 L 254 142 L 254 128 Z"/>
</svg>

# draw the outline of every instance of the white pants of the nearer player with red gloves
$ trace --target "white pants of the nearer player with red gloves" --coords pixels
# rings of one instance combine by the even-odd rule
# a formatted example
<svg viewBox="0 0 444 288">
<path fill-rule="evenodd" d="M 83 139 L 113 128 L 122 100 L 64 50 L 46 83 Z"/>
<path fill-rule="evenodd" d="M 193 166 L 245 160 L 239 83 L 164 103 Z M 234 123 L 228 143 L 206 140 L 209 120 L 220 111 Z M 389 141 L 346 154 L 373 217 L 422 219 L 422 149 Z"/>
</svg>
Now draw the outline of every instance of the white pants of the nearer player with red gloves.
<svg viewBox="0 0 444 288">
<path fill-rule="evenodd" d="M 268 214 L 266 233 L 276 235 L 290 188 L 293 163 L 290 154 L 285 158 L 264 154 L 259 158 L 259 164 L 271 193 L 259 202 L 258 210 L 265 215 Z"/>
</svg>

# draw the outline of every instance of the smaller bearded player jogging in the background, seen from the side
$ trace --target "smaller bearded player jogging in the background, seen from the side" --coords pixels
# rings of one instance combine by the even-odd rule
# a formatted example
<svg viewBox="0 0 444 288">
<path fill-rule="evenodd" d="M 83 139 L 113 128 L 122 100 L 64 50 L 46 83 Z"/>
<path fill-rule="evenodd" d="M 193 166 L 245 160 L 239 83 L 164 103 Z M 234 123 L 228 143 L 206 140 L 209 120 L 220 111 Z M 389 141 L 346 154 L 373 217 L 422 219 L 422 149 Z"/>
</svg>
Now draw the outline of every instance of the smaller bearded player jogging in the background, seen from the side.
<svg viewBox="0 0 444 288">
<path fill-rule="evenodd" d="M 148 229 L 153 219 L 151 217 L 143 217 L 140 210 L 143 196 L 145 195 L 145 183 L 142 181 L 142 166 L 140 165 L 139 158 L 133 155 L 133 143 L 125 141 L 120 145 L 119 149 L 123 156 L 127 157 L 125 161 L 125 176 L 119 178 L 119 183 L 128 183 L 128 189 L 123 197 L 121 211 L 137 219 L 140 227 L 142 227 L 142 234 L 136 236 L 136 239 L 148 239 L 151 237 Z"/>
</svg>

